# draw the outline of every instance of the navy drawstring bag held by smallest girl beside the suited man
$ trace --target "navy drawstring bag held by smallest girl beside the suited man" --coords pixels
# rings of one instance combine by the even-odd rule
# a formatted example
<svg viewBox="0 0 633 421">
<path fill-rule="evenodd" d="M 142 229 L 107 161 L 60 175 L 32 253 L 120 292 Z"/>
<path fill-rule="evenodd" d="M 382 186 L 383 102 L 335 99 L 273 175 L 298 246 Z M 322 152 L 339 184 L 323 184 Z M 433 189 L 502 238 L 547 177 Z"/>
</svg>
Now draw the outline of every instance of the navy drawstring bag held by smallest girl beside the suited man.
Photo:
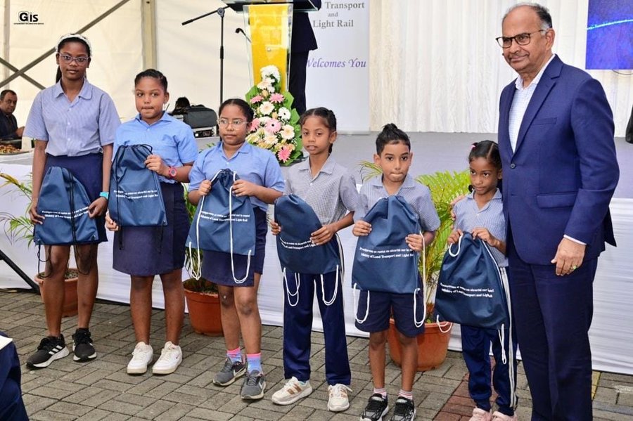
<svg viewBox="0 0 633 421">
<path fill-rule="evenodd" d="M 435 311 L 438 320 L 475 328 L 508 328 L 508 293 L 490 246 L 463 233 L 442 261 Z"/>
</svg>

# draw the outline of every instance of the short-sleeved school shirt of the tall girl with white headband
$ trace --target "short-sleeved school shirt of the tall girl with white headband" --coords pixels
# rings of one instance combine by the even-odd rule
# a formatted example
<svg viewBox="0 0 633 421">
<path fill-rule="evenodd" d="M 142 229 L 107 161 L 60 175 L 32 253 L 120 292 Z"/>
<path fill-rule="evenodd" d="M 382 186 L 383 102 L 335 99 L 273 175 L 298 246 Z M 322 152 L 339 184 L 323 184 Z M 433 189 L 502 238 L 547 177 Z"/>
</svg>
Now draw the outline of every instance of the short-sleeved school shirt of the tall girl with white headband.
<svg viewBox="0 0 633 421">
<path fill-rule="evenodd" d="M 99 153 L 114 143 L 120 124 L 112 98 L 88 79 L 72 103 L 58 82 L 35 97 L 24 136 L 48 142 L 49 155 L 73 157 Z"/>
</svg>

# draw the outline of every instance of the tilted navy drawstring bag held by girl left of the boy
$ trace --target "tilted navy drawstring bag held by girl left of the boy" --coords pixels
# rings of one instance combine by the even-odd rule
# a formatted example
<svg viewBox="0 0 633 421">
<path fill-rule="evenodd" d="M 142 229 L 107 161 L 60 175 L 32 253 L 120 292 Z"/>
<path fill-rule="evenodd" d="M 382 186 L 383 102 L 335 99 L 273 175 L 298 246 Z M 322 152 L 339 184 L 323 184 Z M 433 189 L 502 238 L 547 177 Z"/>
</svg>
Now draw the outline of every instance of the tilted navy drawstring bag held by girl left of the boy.
<svg viewBox="0 0 633 421">
<path fill-rule="evenodd" d="M 277 235 L 277 255 L 283 268 L 283 280 L 286 282 L 286 292 L 288 293 L 288 304 L 296 306 L 298 302 L 292 303 L 290 296 L 298 297 L 300 287 L 300 273 L 310 273 L 321 275 L 321 287 L 323 286 L 323 274 L 336 271 L 336 275 L 344 278 L 343 264 L 341 256 L 343 250 L 340 249 L 338 237 L 335 235 L 324 245 L 315 245 L 310 240 L 310 235 L 321 228 L 321 221 L 314 213 L 314 209 L 302 200 L 298 195 L 283 195 L 275 201 L 274 211 L 275 221 L 281 225 L 281 232 Z M 295 273 L 295 293 L 288 288 L 288 278 L 286 268 Z M 338 278 L 335 280 L 335 290 L 332 299 L 324 299 L 324 304 L 331 305 L 338 292 Z"/>
</svg>

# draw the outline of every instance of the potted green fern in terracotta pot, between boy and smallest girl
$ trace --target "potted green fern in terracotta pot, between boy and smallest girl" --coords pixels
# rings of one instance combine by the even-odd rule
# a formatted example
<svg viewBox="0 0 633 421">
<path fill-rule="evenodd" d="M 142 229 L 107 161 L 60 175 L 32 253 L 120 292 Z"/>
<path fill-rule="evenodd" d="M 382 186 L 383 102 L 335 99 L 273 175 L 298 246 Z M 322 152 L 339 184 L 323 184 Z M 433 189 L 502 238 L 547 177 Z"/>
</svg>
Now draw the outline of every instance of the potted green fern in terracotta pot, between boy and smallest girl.
<svg viewBox="0 0 633 421">
<path fill-rule="evenodd" d="M 363 179 L 371 179 L 381 174 L 381 169 L 373 162 L 362 161 Z M 447 240 L 452 231 L 451 202 L 455 197 L 468 193 L 470 179 L 468 171 L 437 171 L 416 178 L 418 183 L 427 186 L 431 193 L 437 216 L 440 217 L 440 228 L 435 232 L 435 240 L 426 247 L 426 262 L 419 262 L 420 273 L 426 282 L 426 323 L 424 333 L 418 335 L 418 371 L 431 370 L 441 365 L 447 354 L 450 339 L 450 323 L 438 325 L 434 321 L 435 291 L 442 266 L 442 259 L 447 250 Z M 401 361 L 400 344 L 397 339 L 394 320 L 390 320 L 388 343 L 391 359 L 397 365 Z"/>
</svg>

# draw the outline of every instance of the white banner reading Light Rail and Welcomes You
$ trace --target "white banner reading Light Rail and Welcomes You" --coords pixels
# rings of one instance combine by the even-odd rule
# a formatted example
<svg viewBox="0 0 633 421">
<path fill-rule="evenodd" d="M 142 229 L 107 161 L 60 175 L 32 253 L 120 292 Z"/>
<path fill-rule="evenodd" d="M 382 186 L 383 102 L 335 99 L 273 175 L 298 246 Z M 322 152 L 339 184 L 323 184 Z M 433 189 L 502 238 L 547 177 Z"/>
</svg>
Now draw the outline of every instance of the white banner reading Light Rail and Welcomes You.
<svg viewBox="0 0 633 421">
<path fill-rule="evenodd" d="M 323 1 L 309 13 L 316 43 L 307 63 L 307 108 L 333 110 L 339 131 L 369 131 L 369 1 Z"/>
</svg>

